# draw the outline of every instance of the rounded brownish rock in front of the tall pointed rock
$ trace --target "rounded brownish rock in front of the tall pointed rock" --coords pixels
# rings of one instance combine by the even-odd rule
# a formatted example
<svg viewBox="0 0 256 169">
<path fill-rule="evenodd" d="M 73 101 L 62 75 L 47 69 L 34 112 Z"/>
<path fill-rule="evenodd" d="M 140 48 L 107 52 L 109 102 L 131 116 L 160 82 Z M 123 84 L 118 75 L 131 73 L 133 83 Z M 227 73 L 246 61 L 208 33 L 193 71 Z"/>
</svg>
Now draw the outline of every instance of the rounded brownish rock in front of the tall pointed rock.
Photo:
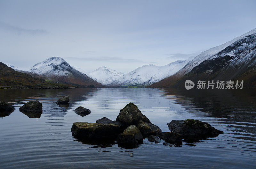
<svg viewBox="0 0 256 169">
<path fill-rule="evenodd" d="M 123 133 L 119 134 L 117 137 L 117 143 L 121 145 L 131 145 L 131 144 L 138 144 L 143 143 L 143 136 L 140 133 L 140 130 L 131 125 L 124 130 Z"/>
</svg>

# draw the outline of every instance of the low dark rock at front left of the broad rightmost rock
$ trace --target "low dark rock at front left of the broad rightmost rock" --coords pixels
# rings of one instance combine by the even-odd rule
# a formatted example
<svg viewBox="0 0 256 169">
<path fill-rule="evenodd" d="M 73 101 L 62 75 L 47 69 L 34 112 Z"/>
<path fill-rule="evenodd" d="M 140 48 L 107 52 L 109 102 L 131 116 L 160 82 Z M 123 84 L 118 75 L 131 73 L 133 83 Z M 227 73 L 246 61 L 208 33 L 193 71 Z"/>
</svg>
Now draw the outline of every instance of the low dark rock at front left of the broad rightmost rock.
<svg viewBox="0 0 256 169">
<path fill-rule="evenodd" d="M 158 132 L 156 136 L 163 139 L 167 143 L 181 143 L 182 135 L 174 132 Z"/>
</svg>

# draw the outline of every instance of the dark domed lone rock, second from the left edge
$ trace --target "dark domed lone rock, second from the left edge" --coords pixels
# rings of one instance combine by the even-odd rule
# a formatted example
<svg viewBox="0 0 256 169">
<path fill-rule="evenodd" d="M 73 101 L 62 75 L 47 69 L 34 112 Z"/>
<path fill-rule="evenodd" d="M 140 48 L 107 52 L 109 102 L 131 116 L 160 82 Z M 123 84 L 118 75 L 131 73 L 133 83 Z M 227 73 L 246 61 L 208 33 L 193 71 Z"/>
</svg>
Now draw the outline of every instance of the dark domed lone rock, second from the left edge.
<svg viewBox="0 0 256 169">
<path fill-rule="evenodd" d="M 43 105 L 39 101 L 29 101 L 20 107 L 20 112 L 41 113 L 43 112 Z"/>
</svg>

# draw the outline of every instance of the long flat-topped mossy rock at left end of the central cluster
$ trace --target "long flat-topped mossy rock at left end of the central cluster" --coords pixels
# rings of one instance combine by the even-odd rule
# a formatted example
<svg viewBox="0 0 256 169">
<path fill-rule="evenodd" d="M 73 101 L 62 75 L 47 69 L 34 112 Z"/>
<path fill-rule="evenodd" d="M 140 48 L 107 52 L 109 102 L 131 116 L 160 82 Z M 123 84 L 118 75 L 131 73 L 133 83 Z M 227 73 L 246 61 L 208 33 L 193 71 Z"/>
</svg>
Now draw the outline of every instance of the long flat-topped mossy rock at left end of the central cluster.
<svg viewBox="0 0 256 169">
<path fill-rule="evenodd" d="M 99 123 L 87 123 L 87 122 L 75 122 L 71 128 L 75 137 L 83 138 L 101 138 L 101 137 L 113 137 L 122 133 L 123 129 L 115 124 L 99 124 Z"/>
</svg>

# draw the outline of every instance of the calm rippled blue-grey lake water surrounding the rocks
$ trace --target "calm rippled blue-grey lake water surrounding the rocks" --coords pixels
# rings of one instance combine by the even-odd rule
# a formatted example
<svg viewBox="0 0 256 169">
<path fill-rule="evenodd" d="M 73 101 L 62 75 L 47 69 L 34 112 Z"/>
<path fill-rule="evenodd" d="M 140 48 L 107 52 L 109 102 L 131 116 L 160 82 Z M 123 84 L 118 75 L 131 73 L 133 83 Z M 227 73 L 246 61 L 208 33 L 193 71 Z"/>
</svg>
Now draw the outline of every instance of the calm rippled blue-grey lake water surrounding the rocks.
<svg viewBox="0 0 256 169">
<path fill-rule="evenodd" d="M 69 107 L 55 102 L 70 97 Z M 255 168 L 256 90 L 189 90 L 158 88 L 74 88 L 0 90 L 0 100 L 16 110 L 0 118 L 0 168 Z M 30 100 L 43 103 L 43 114 L 19 112 Z M 188 118 L 224 131 L 218 137 L 181 146 L 150 143 L 134 149 L 84 144 L 71 134 L 73 122 L 115 120 L 133 102 L 163 132 L 166 123 Z M 89 108 L 81 117 L 76 107 Z"/>
</svg>

